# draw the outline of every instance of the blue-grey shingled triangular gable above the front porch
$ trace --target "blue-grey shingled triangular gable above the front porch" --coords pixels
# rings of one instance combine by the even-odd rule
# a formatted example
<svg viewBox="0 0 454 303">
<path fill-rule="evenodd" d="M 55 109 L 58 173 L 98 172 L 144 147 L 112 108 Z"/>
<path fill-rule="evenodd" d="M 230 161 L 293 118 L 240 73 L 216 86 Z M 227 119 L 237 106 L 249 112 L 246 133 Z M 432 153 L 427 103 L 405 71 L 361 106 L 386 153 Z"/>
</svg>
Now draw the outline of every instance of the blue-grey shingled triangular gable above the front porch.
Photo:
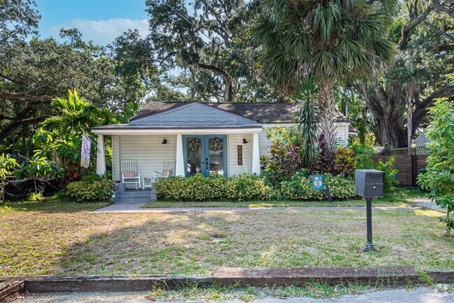
<svg viewBox="0 0 454 303">
<path fill-rule="evenodd" d="M 175 104 L 175 103 L 174 103 Z M 257 121 L 241 117 L 203 103 L 180 103 L 152 112 L 142 117 L 134 117 L 129 122 L 135 126 L 250 126 Z"/>
</svg>

